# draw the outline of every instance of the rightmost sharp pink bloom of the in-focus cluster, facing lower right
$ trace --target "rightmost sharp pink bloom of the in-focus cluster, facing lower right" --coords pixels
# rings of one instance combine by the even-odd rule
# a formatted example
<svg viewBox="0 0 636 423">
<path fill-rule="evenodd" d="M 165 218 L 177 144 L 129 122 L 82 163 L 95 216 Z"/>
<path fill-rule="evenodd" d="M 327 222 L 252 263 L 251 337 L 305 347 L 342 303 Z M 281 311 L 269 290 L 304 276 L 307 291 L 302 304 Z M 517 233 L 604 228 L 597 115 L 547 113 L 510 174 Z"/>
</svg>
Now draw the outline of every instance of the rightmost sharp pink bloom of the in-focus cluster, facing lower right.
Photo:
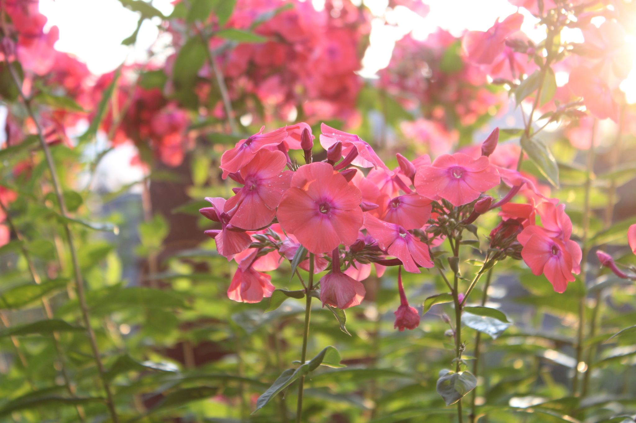
<svg viewBox="0 0 636 423">
<path fill-rule="evenodd" d="M 517 235 L 523 261 L 536 276 L 546 275 L 556 292 L 565 292 L 572 273 L 581 273 L 581 247 L 572 240 L 551 238 L 540 226 L 528 226 Z"/>
</svg>

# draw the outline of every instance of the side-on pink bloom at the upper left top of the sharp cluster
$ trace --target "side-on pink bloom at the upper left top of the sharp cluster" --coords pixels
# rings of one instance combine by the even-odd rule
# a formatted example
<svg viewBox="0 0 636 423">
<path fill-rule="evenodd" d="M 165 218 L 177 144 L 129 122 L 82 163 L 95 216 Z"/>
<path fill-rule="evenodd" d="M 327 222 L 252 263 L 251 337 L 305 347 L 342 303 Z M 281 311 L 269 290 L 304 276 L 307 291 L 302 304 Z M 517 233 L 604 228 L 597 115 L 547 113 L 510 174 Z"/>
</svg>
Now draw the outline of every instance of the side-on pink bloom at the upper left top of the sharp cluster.
<svg viewBox="0 0 636 423">
<path fill-rule="evenodd" d="M 227 150 L 221 156 L 221 169 L 223 169 L 223 179 L 228 174 L 240 171 L 243 166 L 254 159 L 254 155 L 269 145 L 279 145 L 287 138 L 287 131 L 284 127 L 275 131 L 263 134 L 265 126 L 261 127 L 258 134 L 254 134 L 247 140 L 240 140 L 232 150 Z"/>
</svg>

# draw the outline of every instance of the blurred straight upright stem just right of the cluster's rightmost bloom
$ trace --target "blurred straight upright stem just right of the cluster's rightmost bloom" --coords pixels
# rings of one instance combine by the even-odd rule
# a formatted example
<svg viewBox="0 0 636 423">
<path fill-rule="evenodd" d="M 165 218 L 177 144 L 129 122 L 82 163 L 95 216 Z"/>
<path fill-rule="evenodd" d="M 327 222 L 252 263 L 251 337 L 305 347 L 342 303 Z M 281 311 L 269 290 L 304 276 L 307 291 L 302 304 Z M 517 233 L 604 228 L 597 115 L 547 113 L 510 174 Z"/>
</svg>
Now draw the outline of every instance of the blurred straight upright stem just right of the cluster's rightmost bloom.
<svg viewBox="0 0 636 423">
<path fill-rule="evenodd" d="M 581 279 L 581 285 L 583 285 L 583 294 L 581 294 L 581 298 L 579 298 L 579 328 L 577 330 L 577 341 L 576 341 L 576 367 L 574 368 L 574 376 L 572 377 L 572 395 L 577 395 L 577 391 L 579 388 L 579 363 L 583 359 L 583 338 L 584 338 L 584 328 L 585 328 L 585 302 L 587 299 L 587 285 L 586 285 L 586 272 L 587 272 L 587 262 L 588 262 L 588 254 L 590 252 L 590 246 L 588 245 L 588 229 L 590 227 L 590 188 L 591 188 L 591 174 L 594 170 L 594 138 L 597 126 L 597 119 L 594 118 L 594 122 L 592 124 L 592 132 L 590 139 L 590 150 L 588 150 L 587 157 L 587 176 L 585 179 L 585 195 L 583 199 L 583 218 L 581 220 L 581 226 L 583 227 L 583 236 L 581 237 L 581 241 L 583 242 L 583 251 L 581 255 L 581 275 L 579 278 Z"/>
</svg>

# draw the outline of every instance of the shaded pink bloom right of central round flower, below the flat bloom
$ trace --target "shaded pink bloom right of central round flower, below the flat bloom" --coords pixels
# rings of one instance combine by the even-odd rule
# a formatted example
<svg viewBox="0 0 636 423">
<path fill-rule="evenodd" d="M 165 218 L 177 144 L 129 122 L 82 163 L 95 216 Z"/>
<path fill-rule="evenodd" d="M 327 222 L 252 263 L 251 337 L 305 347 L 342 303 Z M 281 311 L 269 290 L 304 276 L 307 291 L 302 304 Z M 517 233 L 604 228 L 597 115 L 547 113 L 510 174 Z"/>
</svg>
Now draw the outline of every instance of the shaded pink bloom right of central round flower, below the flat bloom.
<svg viewBox="0 0 636 423">
<path fill-rule="evenodd" d="M 417 193 L 399 195 L 391 200 L 387 198 L 380 219 L 406 230 L 422 228 L 431 217 L 431 202 Z"/>
</svg>

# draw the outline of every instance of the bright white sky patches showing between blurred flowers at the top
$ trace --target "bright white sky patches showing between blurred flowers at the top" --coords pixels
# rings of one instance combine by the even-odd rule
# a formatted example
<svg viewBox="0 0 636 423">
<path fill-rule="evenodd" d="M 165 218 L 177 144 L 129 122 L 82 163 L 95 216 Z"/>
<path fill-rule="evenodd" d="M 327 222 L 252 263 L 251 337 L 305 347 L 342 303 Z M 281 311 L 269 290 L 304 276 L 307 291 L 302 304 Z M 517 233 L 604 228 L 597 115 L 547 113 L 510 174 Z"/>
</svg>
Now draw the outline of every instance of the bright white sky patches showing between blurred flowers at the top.
<svg viewBox="0 0 636 423">
<path fill-rule="evenodd" d="M 152 3 L 164 14 L 172 11 L 170 0 L 153 0 Z M 312 3 L 316 8 L 324 5 L 321 0 L 312 0 Z M 371 48 L 364 58 L 362 75 L 369 77 L 386 67 L 395 41 L 411 30 L 419 39 L 438 26 L 456 35 L 464 29 L 487 30 L 497 17 L 504 18 L 516 10 L 507 0 L 425 0 L 424 3 L 431 6 L 431 13 L 425 19 L 398 6 L 386 16 L 387 22 L 397 23 L 397 28 L 385 26 L 379 18 L 373 21 Z M 48 18 L 47 27 L 57 25 L 60 29 L 55 48 L 78 56 L 95 74 L 113 70 L 128 55 L 128 60 L 144 60 L 144 52 L 158 35 L 156 26 L 145 22 L 132 53 L 131 48 L 121 45 L 121 41 L 134 32 L 137 13 L 121 6 L 118 0 L 40 0 L 39 4 L 41 13 Z M 364 4 L 379 16 L 388 0 L 364 0 Z"/>
</svg>

